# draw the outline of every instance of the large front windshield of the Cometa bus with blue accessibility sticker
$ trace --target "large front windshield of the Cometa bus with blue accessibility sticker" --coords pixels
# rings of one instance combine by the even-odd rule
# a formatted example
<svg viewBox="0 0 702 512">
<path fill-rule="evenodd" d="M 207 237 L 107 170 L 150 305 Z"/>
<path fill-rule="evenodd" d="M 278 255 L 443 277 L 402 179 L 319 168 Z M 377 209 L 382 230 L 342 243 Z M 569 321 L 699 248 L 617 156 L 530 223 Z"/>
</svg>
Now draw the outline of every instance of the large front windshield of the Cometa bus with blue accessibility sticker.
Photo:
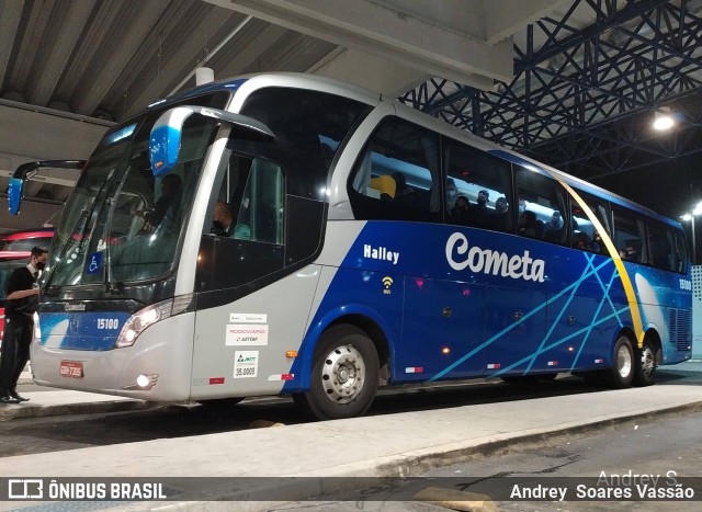
<svg viewBox="0 0 702 512">
<path fill-rule="evenodd" d="M 224 99 L 218 94 L 190 103 L 219 107 Z M 202 162 L 218 125 L 188 120 L 178 164 L 155 178 L 148 138 L 159 114 L 151 112 L 111 130 L 90 158 L 52 244 L 49 287 L 144 281 L 173 268 Z"/>
</svg>

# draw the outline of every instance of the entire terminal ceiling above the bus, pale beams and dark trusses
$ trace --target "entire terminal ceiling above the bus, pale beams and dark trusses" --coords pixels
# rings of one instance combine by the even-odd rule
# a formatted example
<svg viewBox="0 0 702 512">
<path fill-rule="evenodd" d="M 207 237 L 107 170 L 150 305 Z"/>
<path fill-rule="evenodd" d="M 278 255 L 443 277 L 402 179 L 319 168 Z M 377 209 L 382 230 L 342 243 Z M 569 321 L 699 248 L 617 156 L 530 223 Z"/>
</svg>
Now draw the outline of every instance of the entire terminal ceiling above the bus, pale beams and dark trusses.
<svg viewBox="0 0 702 512">
<path fill-rule="evenodd" d="M 107 126 L 197 67 L 316 72 L 598 182 L 702 151 L 701 37 L 702 0 L 0 0 L 0 106 Z"/>
</svg>

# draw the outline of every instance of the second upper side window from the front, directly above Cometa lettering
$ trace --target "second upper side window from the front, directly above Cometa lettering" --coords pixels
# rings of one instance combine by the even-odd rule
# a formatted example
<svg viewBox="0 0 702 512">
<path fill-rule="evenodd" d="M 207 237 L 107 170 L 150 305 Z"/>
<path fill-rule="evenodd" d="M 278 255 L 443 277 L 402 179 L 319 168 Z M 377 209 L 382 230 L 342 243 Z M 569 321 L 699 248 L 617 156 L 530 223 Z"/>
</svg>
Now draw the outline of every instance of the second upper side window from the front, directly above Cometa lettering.
<svg viewBox="0 0 702 512">
<path fill-rule="evenodd" d="M 444 161 L 446 221 L 511 232 L 509 163 L 448 138 Z"/>
</svg>

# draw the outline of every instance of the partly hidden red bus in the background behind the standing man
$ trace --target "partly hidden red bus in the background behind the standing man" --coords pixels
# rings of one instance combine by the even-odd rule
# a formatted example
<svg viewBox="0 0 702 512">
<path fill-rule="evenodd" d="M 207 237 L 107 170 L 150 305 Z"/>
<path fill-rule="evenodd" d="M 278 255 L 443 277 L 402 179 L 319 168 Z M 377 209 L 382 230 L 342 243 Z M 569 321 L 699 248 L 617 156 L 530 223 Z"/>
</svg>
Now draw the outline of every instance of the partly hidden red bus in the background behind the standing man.
<svg viewBox="0 0 702 512">
<path fill-rule="evenodd" d="M 4 299 L 5 285 L 14 269 L 24 266 L 30 262 L 32 248 L 50 244 L 54 228 L 38 228 L 24 231 L 13 231 L 0 235 L 0 343 L 2 343 L 2 330 L 4 329 Z"/>
</svg>

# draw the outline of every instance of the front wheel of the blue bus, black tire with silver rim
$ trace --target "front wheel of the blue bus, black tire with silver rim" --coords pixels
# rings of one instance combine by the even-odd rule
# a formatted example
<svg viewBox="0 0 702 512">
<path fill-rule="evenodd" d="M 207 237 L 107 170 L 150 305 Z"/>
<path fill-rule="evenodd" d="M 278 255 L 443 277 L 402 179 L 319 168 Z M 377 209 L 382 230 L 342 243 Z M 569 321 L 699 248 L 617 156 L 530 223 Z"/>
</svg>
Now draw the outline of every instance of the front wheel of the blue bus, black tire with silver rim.
<svg viewBox="0 0 702 512">
<path fill-rule="evenodd" d="M 373 403 L 378 374 L 377 351 L 367 334 L 354 326 L 335 326 L 315 349 L 309 390 L 293 399 L 317 420 L 354 418 Z"/>
</svg>

